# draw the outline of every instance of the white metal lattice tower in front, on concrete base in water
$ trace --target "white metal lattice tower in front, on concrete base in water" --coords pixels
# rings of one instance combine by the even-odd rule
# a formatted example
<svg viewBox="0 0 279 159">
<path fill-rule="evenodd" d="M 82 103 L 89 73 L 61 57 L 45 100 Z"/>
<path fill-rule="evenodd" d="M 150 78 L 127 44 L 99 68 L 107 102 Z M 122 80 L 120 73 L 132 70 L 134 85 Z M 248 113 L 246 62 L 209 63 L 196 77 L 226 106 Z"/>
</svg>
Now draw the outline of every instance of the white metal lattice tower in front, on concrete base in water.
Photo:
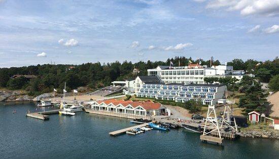
<svg viewBox="0 0 279 159">
<path fill-rule="evenodd" d="M 216 119 L 216 121 L 208 121 L 208 117 L 210 117 L 210 115 L 214 113 L 214 118 Z M 207 122 L 210 122 L 213 126 L 207 126 Z M 206 128 L 212 128 L 211 131 L 209 132 L 205 132 Z M 213 131 L 218 131 L 218 135 L 219 138 L 221 139 L 221 134 L 220 134 L 220 128 L 219 128 L 219 124 L 217 121 L 217 116 L 216 116 L 216 112 L 215 112 L 215 105 L 208 105 L 208 111 L 207 111 L 207 115 L 206 115 L 206 119 L 205 119 L 205 124 L 204 124 L 204 129 L 203 129 L 203 134 L 202 135 L 207 135 L 210 134 Z"/>
</svg>

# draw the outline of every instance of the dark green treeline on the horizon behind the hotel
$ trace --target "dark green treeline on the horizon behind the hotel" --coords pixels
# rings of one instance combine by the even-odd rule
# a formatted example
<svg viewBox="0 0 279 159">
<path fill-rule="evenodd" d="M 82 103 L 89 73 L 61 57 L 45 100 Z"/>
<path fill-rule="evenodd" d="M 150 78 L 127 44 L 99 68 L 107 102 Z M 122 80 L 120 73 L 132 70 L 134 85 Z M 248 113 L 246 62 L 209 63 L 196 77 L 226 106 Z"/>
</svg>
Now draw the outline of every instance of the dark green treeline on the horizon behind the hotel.
<svg viewBox="0 0 279 159">
<path fill-rule="evenodd" d="M 155 62 L 131 62 L 118 61 L 114 63 L 100 64 L 86 63 L 82 65 L 37 65 L 28 67 L 11 67 L 0 69 L 0 87 L 8 89 L 25 89 L 30 95 L 37 95 L 44 92 L 51 92 L 53 88 L 64 87 L 67 83 L 67 90 L 75 89 L 80 86 L 88 86 L 95 89 L 101 86 L 110 85 L 112 81 L 135 78 L 137 75 L 147 75 L 147 69 L 156 68 L 159 65 L 188 66 L 192 63 L 201 62 L 201 65 L 211 65 L 211 60 L 186 57 L 175 57 Z M 240 59 L 234 59 L 227 63 L 233 66 L 234 70 L 246 70 L 248 73 L 256 74 L 261 81 L 268 82 L 273 76 L 279 74 L 279 59 L 276 57 L 273 61 L 255 61 L 247 60 L 243 62 Z M 218 60 L 214 60 L 212 65 L 220 65 Z M 132 74 L 132 70 L 140 70 L 138 74 Z M 25 77 L 11 78 L 13 75 L 36 75 L 38 78 L 28 80 Z"/>
</svg>

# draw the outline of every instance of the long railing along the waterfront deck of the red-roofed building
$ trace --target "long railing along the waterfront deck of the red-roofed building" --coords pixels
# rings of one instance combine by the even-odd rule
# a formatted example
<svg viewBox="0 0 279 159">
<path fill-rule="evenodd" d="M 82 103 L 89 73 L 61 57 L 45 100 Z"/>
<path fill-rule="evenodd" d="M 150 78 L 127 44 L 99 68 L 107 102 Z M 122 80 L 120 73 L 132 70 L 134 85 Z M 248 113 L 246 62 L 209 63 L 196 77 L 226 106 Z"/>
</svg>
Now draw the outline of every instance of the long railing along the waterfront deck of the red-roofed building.
<svg viewBox="0 0 279 159">
<path fill-rule="evenodd" d="M 100 111 L 100 110 L 93 110 L 90 108 L 85 108 L 85 112 L 93 113 L 93 114 L 99 114 L 99 115 L 105 115 L 105 116 L 113 116 L 113 117 L 120 117 L 120 118 L 128 118 L 128 119 L 138 119 L 143 118 L 150 120 L 150 116 L 142 116 L 142 115 L 135 115 L 135 114 L 126 114 L 126 113 L 116 113 L 116 112 L 109 112 L 109 111 Z"/>
</svg>

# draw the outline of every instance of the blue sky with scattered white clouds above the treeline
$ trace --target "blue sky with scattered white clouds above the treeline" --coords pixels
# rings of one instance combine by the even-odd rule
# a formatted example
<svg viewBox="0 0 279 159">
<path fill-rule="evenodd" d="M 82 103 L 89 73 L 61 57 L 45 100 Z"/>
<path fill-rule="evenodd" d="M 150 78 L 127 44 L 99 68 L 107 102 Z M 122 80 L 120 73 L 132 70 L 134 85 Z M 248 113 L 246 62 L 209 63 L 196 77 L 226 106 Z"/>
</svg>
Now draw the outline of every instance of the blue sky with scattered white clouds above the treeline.
<svg viewBox="0 0 279 159">
<path fill-rule="evenodd" d="M 0 0 L 0 67 L 279 56 L 279 0 Z"/>
</svg>

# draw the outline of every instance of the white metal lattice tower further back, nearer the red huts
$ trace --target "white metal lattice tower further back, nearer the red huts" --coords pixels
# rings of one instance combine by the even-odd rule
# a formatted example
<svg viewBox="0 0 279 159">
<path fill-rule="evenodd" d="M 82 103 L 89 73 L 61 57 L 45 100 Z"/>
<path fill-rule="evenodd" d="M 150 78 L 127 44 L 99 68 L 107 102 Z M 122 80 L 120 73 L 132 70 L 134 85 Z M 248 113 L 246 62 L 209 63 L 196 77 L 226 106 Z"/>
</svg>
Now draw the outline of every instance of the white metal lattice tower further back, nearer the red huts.
<svg viewBox="0 0 279 159">
<path fill-rule="evenodd" d="M 230 116 L 233 117 L 234 127 L 232 127 L 231 124 L 230 124 L 230 122 L 231 122 Z M 227 126 L 231 127 L 233 130 L 235 130 L 237 132 L 237 125 L 236 125 L 236 122 L 235 122 L 233 111 L 232 111 L 232 108 L 230 108 L 228 104 L 226 104 L 226 106 L 225 106 L 225 111 L 224 111 L 224 114 L 222 116 L 222 123 L 221 123 L 221 128 L 220 129 L 222 129 L 224 125 L 227 125 Z"/>
</svg>

